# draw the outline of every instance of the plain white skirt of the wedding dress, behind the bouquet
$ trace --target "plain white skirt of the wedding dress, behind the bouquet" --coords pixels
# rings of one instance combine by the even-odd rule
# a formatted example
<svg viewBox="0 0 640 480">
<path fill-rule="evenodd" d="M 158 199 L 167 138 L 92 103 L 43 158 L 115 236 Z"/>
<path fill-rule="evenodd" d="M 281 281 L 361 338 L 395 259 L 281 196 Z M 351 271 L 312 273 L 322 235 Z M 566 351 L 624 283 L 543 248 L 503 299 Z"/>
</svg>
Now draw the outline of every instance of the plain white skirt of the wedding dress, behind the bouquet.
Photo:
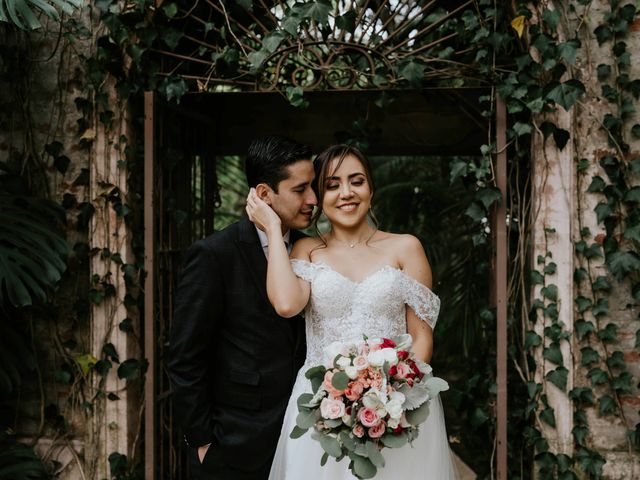
<svg viewBox="0 0 640 480">
<path fill-rule="evenodd" d="M 311 392 L 311 383 L 300 373 L 289 399 L 269 480 L 356 480 L 348 468 L 348 457 L 340 462 L 329 457 L 327 463 L 320 466 L 324 450 L 320 442 L 311 438 L 311 430 L 295 440 L 289 438 L 298 415 L 296 401 L 305 392 Z M 431 401 L 429 417 L 420 425 L 420 433 L 413 444 L 385 448 L 382 455 L 385 466 L 378 469 L 376 480 L 457 478 L 439 396 Z"/>
</svg>

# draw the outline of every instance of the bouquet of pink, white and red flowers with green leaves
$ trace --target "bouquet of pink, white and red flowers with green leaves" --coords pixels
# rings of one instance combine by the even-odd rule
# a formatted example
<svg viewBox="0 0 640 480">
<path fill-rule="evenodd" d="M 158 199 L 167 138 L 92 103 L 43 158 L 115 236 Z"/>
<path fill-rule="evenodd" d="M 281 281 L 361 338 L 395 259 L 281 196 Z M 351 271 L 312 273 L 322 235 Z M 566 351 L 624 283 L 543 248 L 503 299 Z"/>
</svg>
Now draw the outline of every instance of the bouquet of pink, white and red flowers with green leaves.
<svg viewBox="0 0 640 480">
<path fill-rule="evenodd" d="M 429 365 L 415 358 L 411 336 L 334 342 L 325 349 L 326 365 L 305 376 L 313 393 L 298 397 L 298 416 L 291 438 L 313 429 L 329 456 L 349 457 L 358 478 L 372 478 L 384 467 L 381 450 L 399 448 L 418 435 L 429 415 L 429 401 L 449 385 L 434 377 Z"/>
</svg>

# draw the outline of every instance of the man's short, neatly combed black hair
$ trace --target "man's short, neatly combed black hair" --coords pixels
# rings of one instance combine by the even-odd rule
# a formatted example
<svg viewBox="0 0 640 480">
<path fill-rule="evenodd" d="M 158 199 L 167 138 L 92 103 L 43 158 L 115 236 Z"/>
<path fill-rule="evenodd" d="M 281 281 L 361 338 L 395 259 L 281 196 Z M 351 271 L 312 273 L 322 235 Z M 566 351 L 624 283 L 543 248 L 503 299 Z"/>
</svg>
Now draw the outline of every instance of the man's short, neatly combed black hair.
<svg viewBox="0 0 640 480">
<path fill-rule="evenodd" d="M 249 145 L 245 173 L 249 187 L 266 183 L 278 193 L 278 184 L 289 175 L 287 167 L 300 160 L 311 160 L 311 148 L 287 137 L 268 135 Z"/>
</svg>

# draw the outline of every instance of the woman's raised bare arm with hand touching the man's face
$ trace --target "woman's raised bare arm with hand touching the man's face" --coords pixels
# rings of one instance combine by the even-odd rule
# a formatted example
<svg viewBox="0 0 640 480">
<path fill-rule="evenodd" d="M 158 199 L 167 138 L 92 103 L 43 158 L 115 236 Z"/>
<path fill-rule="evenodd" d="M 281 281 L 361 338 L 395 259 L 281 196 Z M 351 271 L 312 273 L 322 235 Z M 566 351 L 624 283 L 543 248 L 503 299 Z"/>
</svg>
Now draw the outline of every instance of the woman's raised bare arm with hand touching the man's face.
<svg viewBox="0 0 640 480">
<path fill-rule="evenodd" d="M 273 209 L 251 189 L 247 198 L 249 219 L 263 230 L 269 239 L 267 266 L 267 296 L 281 317 L 290 318 L 302 311 L 309 300 L 311 287 L 298 278 L 289 261 L 289 254 L 282 238 L 282 223 Z M 298 242 L 300 243 L 300 242 Z M 296 243 L 296 247 L 298 247 Z M 301 258 L 300 248 L 294 247 L 292 256 Z M 297 255 L 297 257 L 296 257 Z"/>
</svg>

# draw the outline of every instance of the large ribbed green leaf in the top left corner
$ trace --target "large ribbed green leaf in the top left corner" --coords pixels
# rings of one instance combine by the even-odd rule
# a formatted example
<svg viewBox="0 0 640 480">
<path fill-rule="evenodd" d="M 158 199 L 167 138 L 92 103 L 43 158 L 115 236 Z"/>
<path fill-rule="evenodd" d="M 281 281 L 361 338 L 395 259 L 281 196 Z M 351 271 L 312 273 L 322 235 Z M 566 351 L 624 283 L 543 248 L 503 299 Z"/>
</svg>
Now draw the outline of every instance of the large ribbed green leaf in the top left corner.
<svg viewBox="0 0 640 480">
<path fill-rule="evenodd" d="M 0 0 L 0 22 L 35 30 L 42 26 L 41 14 L 60 20 L 60 12 L 71 15 L 81 5 L 82 0 Z"/>
</svg>

